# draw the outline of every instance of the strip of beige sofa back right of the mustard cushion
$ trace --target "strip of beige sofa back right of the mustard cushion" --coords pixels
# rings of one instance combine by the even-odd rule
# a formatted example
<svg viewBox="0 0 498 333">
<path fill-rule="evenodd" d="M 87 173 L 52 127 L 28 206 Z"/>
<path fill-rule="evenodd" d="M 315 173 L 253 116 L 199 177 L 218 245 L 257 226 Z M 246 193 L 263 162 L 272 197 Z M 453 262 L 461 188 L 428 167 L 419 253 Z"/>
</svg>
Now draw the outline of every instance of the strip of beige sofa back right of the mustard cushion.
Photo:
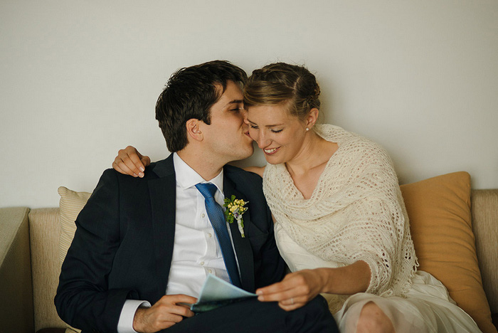
<svg viewBox="0 0 498 333">
<path fill-rule="evenodd" d="M 498 313 L 498 189 L 473 190 L 472 231 L 491 313 Z"/>
</svg>

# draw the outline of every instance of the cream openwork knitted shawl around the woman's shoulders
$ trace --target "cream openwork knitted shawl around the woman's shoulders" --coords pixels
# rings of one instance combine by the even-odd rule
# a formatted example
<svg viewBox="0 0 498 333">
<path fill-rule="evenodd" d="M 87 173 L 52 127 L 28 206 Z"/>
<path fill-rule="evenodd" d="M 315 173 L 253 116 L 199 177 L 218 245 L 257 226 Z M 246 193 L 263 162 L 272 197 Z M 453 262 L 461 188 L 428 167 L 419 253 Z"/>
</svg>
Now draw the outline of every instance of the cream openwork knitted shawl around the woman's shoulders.
<svg viewBox="0 0 498 333">
<path fill-rule="evenodd" d="M 289 236 L 323 260 L 371 269 L 366 292 L 404 295 L 418 266 L 398 178 L 388 154 L 341 127 L 317 125 L 315 132 L 339 149 L 317 187 L 304 199 L 285 164 L 267 164 L 263 191 Z"/>
</svg>

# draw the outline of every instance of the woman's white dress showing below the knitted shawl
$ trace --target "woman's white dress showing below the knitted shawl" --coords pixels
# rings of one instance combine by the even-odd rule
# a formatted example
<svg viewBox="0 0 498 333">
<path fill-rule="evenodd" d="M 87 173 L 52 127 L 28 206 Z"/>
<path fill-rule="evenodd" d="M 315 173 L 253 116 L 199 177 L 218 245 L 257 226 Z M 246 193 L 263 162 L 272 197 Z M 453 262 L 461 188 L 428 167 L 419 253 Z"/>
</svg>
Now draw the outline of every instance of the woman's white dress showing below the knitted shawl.
<svg viewBox="0 0 498 333">
<path fill-rule="evenodd" d="M 292 272 L 339 267 L 337 263 L 317 258 L 297 245 L 280 226 L 280 223 L 275 224 L 275 238 L 282 258 Z M 433 275 L 419 270 L 412 277 L 412 282 L 406 294 L 407 297 L 381 297 L 365 292 L 352 296 L 330 294 L 322 294 L 322 296 L 329 302 L 339 331 L 342 333 L 356 332 L 356 322 L 361 308 L 370 301 L 375 302 L 391 319 L 396 332 L 481 332 L 474 320 L 455 305 L 447 294 L 445 286 Z"/>
</svg>

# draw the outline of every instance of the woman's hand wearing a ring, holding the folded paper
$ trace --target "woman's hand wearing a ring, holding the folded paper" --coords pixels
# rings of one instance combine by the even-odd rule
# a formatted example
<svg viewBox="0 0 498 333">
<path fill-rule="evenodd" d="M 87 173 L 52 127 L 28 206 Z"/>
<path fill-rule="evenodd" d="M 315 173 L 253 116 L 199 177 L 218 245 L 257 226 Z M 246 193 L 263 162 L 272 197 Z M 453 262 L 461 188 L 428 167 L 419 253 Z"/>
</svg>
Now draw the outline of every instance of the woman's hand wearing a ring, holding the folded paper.
<svg viewBox="0 0 498 333">
<path fill-rule="evenodd" d="M 278 302 L 285 311 L 296 310 L 323 292 L 326 277 L 320 270 L 298 270 L 285 275 L 281 282 L 256 290 L 261 302 Z"/>
</svg>

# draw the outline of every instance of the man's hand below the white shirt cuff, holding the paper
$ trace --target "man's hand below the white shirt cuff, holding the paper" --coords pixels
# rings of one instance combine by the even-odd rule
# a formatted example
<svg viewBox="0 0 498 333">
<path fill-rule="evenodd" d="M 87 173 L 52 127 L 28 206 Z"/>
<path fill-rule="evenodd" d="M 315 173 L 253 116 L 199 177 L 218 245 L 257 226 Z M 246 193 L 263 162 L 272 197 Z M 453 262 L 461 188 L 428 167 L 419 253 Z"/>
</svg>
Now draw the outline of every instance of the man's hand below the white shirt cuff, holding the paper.
<svg viewBox="0 0 498 333">
<path fill-rule="evenodd" d="M 181 322 L 184 317 L 194 316 L 188 305 L 194 304 L 195 297 L 188 295 L 165 295 L 152 307 L 139 307 L 133 318 L 133 329 L 140 333 L 154 333 Z"/>
</svg>

